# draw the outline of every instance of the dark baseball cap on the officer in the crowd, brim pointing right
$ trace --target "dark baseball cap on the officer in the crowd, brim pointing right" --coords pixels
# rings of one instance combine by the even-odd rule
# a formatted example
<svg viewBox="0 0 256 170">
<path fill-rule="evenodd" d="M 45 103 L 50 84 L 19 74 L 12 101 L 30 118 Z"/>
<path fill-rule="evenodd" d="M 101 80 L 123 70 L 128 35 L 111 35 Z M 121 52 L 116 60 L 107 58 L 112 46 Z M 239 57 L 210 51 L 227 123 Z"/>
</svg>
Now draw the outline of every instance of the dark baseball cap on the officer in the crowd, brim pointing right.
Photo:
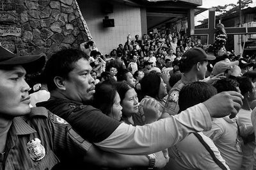
<svg viewBox="0 0 256 170">
<path fill-rule="evenodd" d="M 184 61 L 197 63 L 203 60 L 214 60 L 215 56 L 207 55 L 202 48 L 194 47 L 192 49 L 186 50 L 183 54 Z"/>
</svg>

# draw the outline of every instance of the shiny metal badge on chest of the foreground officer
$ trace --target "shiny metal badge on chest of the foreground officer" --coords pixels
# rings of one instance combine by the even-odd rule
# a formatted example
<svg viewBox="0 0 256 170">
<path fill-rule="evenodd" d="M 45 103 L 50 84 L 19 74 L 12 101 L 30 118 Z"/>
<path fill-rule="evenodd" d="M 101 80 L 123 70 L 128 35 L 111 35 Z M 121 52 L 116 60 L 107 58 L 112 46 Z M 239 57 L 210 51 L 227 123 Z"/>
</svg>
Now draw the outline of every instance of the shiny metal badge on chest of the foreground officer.
<svg viewBox="0 0 256 170">
<path fill-rule="evenodd" d="M 35 138 L 27 143 L 29 156 L 32 160 L 38 161 L 45 157 L 45 148 L 40 139 Z"/>
</svg>

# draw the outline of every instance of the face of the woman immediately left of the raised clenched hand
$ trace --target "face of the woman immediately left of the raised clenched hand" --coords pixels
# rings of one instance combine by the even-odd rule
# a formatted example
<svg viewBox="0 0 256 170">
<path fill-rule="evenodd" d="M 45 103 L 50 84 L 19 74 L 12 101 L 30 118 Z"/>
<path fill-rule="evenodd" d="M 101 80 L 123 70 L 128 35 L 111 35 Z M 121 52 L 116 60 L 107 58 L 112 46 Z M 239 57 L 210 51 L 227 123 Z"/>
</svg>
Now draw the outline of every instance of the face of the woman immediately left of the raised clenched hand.
<svg viewBox="0 0 256 170">
<path fill-rule="evenodd" d="M 138 97 L 134 88 L 129 89 L 125 93 L 125 98 L 122 101 L 121 105 L 123 107 L 122 112 L 126 117 L 132 116 L 132 114 L 139 111 Z"/>
</svg>

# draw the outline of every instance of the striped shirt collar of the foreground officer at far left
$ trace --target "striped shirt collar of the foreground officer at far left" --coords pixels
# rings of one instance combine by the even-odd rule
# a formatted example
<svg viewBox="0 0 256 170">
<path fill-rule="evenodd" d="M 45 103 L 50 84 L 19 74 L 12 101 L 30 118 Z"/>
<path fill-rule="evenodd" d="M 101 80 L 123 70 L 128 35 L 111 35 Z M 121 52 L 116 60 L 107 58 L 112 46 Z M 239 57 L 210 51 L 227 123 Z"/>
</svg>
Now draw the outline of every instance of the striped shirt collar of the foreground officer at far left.
<svg viewBox="0 0 256 170">
<path fill-rule="evenodd" d="M 13 119 L 13 127 L 16 130 L 17 135 L 27 135 L 36 133 L 36 130 L 31 128 L 21 117 Z"/>
</svg>

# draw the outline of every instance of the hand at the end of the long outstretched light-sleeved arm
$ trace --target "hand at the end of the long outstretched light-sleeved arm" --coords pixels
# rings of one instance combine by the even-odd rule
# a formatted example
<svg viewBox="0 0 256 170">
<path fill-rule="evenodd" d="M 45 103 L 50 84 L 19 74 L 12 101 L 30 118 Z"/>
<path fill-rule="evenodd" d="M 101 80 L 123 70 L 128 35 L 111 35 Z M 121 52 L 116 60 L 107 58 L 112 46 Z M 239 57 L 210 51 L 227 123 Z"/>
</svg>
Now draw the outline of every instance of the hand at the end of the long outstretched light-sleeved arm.
<svg viewBox="0 0 256 170">
<path fill-rule="evenodd" d="M 243 96 L 236 91 L 225 91 L 214 95 L 203 104 L 209 111 L 212 118 L 221 118 L 231 113 L 232 117 L 236 116 L 241 105 Z"/>
</svg>

